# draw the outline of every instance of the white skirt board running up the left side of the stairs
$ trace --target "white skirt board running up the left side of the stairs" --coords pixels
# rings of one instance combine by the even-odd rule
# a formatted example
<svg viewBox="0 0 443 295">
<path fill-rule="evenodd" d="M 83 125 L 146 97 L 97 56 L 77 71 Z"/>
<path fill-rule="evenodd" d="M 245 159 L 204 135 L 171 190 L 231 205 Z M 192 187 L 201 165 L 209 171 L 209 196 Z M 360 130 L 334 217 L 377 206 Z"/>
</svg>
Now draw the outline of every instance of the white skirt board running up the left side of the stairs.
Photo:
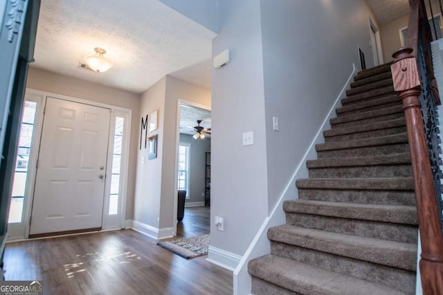
<svg viewBox="0 0 443 295">
<path fill-rule="evenodd" d="M 260 229 L 255 234 L 253 241 L 249 245 L 248 249 L 246 249 L 242 260 L 239 262 L 237 268 L 235 269 L 233 274 L 234 295 L 251 294 L 252 278 L 248 274 L 248 262 L 253 258 L 257 258 L 259 256 L 265 255 L 266 253 L 269 253 L 269 240 L 267 238 L 267 231 L 272 226 L 278 226 L 279 224 L 285 222 L 284 212 L 282 211 L 283 202 L 285 200 L 294 198 L 296 199 L 298 197 L 298 190 L 296 186 L 294 186 L 294 183 L 296 179 L 308 176 L 308 170 L 305 166 L 305 163 L 309 159 L 316 158 L 315 145 L 324 142 L 323 132 L 326 132 L 326 130 L 331 127 L 331 125 L 329 124 L 329 120 L 336 117 L 335 110 L 338 107 L 341 107 L 341 100 L 343 100 L 343 98 L 345 97 L 345 91 L 350 88 L 352 78 L 355 74 L 356 66 L 355 64 L 352 64 L 352 71 L 343 84 L 341 91 L 338 93 L 334 104 L 329 109 L 325 120 L 323 121 L 322 125 L 320 125 L 318 132 L 314 137 L 314 140 L 307 148 L 307 151 L 303 155 L 302 159 L 300 159 L 300 163 L 294 171 L 291 179 L 289 179 L 286 188 L 284 188 L 282 195 L 280 195 L 280 198 L 278 199 L 278 202 L 273 207 L 273 210 L 271 211 L 269 217 L 266 217 L 266 219 L 260 226 Z M 293 294 L 293 292 L 289 294 Z"/>
</svg>

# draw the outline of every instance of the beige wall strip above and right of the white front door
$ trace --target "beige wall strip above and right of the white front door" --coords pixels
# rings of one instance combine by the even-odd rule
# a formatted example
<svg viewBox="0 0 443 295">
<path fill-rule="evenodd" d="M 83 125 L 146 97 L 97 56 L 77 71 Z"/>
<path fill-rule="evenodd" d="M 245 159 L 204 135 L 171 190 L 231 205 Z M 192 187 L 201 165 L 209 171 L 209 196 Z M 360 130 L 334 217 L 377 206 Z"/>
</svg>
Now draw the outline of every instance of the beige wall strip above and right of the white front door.
<svg viewBox="0 0 443 295">
<path fill-rule="evenodd" d="M 118 107 L 132 109 L 131 123 L 131 144 L 129 146 L 129 170 L 127 182 L 127 203 L 126 203 L 126 219 L 132 220 L 134 216 L 134 190 L 136 180 L 136 154 L 138 132 L 140 125 L 138 123 L 140 95 L 128 91 L 103 86 L 71 78 L 66 75 L 51 73 L 42 69 L 29 68 L 28 80 L 26 87 L 51 93 L 62 94 L 74 98 L 82 98 L 94 102 L 102 102 Z"/>
</svg>

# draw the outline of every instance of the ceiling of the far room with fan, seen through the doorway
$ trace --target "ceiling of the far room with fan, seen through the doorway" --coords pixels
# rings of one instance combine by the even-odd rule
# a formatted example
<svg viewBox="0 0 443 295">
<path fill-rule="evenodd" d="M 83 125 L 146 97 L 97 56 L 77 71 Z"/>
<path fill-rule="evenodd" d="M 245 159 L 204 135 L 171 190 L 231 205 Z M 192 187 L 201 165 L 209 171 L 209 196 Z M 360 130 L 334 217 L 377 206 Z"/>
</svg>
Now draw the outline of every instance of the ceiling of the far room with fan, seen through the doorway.
<svg viewBox="0 0 443 295">
<path fill-rule="evenodd" d="M 201 127 L 210 128 L 210 111 L 189 105 L 181 105 L 180 133 L 194 135 L 194 127 L 197 126 L 197 120 L 201 120 Z"/>
</svg>

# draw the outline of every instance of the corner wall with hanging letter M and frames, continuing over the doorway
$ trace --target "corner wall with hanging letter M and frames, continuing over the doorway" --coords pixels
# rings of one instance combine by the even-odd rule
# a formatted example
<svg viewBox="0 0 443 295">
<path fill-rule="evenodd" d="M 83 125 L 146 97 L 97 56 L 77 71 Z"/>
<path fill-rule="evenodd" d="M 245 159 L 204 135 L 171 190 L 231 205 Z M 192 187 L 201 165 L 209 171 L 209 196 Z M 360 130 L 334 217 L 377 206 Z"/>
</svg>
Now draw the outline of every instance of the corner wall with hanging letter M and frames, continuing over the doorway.
<svg viewBox="0 0 443 295">
<path fill-rule="evenodd" d="M 147 136 L 158 134 L 157 158 L 147 159 L 144 146 L 138 150 L 136 197 L 134 220 L 150 226 L 166 236 L 171 234 L 176 221 L 174 206 L 177 204 L 177 134 L 178 100 L 187 100 L 210 109 L 210 90 L 188 82 L 165 76 L 147 89 L 141 96 L 138 120 L 138 144 L 140 143 L 141 117 L 158 110 L 158 129 Z M 145 163 L 142 158 L 145 157 Z"/>
</svg>

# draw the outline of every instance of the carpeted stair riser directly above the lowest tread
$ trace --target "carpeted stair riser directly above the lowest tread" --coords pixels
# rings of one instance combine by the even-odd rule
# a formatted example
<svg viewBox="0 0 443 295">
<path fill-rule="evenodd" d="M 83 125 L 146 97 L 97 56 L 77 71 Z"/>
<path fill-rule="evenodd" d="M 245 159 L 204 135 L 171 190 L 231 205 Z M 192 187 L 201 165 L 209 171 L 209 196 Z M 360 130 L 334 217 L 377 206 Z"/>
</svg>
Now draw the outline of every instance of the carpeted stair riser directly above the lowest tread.
<svg viewBox="0 0 443 295">
<path fill-rule="evenodd" d="M 415 272 L 271 241 L 271 253 L 395 289 L 415 289 Z"/>
</svg>

